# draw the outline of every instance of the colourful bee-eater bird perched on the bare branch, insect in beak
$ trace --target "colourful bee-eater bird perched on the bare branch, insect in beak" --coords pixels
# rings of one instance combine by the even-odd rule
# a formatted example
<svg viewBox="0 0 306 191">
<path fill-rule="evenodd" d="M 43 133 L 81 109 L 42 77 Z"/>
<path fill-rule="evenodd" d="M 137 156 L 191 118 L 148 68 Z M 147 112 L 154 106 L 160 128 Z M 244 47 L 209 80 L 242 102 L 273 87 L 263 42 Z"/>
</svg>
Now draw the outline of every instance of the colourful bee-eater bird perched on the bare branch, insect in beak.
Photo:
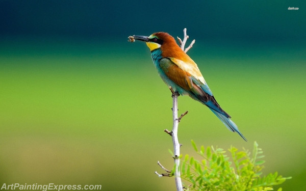
<svg viewBox="0 0 306 191">
<path fill-rule="evenodd" d="M 144 41 L 149 47 L 157 71 L 168 86 L 181 95 L 189 95 L 208 106 L 228 129 L 237 132 L 247 141 L 237 125 L 230 119 L 231 116 L 217 103 L 196 63 L 181 49 L 172 36 L 158 32 L 149 37 L 133 36 L 133 38 Z"/>
</svg>

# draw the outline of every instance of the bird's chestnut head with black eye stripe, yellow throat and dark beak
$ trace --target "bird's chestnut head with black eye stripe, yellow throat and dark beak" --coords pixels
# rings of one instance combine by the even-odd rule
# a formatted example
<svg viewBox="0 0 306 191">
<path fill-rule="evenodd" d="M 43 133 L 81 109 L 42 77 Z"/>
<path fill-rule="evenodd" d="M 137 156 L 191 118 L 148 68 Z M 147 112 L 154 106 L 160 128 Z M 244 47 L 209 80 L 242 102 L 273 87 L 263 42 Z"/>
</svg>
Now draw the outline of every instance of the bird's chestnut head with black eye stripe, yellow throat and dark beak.
<svg viewBox="0 0 306 191">
<path fill-rule="evenodd" d="M 171 47 L 180 48 L 179 45 L 176 44 L 175 39 L 168 33 L 164 32 L 153 33 L 149 37 L 133 36 L 133 38 L 135 40 L 144 41 L 149 47 L 150 51 L 158 48 L 161 48 L 162 50 L 166 48 L 169 49 Z"/>
</svg>

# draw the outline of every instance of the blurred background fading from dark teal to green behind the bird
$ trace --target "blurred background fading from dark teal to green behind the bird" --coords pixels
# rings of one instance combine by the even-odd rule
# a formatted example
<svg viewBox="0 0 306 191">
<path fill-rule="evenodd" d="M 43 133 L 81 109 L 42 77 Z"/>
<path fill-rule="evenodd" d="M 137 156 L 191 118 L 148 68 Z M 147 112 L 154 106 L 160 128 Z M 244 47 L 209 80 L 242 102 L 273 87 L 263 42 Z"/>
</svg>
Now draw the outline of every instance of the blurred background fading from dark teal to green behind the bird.
<svg viewBox="0 0 306 191">
<path fill-rule="evenodd" d="M 298 7 L 299 10 L 288 10 Z M 248 139 L 179 97 L 182 154 L 198 145 L 266 155 L 264 173 L 305 190 L 306 14 L 301 1 L 0 1 L 0 183 L 174 190 L 172 99 L 144 43 L 196 39 L 189 56 Z"/>
</svg>

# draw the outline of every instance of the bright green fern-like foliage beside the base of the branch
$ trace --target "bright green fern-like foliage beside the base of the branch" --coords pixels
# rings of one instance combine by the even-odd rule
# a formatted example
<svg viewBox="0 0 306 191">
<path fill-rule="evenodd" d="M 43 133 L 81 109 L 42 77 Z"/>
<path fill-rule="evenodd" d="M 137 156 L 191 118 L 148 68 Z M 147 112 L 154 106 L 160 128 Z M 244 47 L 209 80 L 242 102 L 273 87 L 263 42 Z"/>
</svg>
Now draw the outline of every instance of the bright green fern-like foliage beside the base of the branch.
<svg viewBox="0 0 306 191">
<path fill-rule="evenodd" d="M 198 148 L 193 141 L 191 143 L 201 160 L 188 154 L 181 156 L 181 178 L 191 183 L 185 184 L 185 190 L 266 191 L 291 178 L 282 177 L 277 172 L 262 175 L 264 155 L 256 142 L 252 154 L 245 149 L 238 151 L 233 146 L 226 152 L 221 148 Z M 228 152 L 230 156 L 226 155 Z M 281 190 L 278 188 L 278 191 Z"/>
</svg>

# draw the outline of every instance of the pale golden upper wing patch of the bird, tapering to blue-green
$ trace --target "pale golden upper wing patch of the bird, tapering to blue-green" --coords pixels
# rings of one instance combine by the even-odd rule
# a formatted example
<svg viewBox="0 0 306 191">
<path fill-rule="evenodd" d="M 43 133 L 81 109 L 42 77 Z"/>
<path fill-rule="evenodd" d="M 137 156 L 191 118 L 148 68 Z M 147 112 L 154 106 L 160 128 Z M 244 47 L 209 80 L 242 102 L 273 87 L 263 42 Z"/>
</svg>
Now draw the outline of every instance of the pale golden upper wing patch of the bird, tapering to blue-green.
<svg viewBox="0 0 306 191">
<path fill-rule="evenodd" d="M 199 68 L 193 60 L 189 60 L 188 62 L 184 62 L 180 59 L 169 58 L 174 64 L 179 66 L 182 70 L 188 72 L 191 75 L 192 81 L 198 85 L 203 91 L 213 96 L 212 91 L 209 89 L 204 77 L 202 76 Z"/>
</svg>

